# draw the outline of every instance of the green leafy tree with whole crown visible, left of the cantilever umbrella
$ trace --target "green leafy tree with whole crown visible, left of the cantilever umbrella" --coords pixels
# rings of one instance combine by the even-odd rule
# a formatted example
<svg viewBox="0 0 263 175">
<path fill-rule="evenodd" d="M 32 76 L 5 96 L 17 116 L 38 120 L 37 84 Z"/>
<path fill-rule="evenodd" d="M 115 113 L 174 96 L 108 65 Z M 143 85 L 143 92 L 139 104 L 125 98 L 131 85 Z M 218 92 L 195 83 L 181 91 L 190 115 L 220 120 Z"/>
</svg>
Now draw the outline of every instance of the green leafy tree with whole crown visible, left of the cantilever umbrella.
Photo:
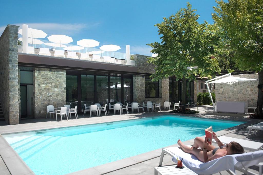
<svg viewBox="0 0 263 175">
<path fill-rule="evenodd" d="M 196 75 L 210 77 L 214 72 L 220 72 L 218 62 L 214 58 L 213 38 L 206 22 L 197 22 L 199 15 L 187 3 L 187 8 L 180 9 L 175 15 L 163 18 L 156 24 L 161 43 L 148 44 L 153 47 L 152 53 L 158 54 L 149 58 L 154 63 L 153 81 L 168 76 L 182 79 L 182 105 L 185 110 L 186 79 L 194 80 Z M 193 68 L 195 67 L 195 68 Z"/>
</svg>

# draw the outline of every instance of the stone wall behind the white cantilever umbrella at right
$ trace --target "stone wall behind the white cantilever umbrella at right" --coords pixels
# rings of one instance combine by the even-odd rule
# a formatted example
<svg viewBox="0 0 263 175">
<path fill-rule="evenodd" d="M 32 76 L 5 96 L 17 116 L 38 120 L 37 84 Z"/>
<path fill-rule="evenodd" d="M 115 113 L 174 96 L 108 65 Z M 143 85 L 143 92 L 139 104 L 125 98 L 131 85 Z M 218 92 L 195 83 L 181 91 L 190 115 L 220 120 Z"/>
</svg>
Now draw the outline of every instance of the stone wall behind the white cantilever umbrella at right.
<svg viewBox="0 0 263 175">
<path fill-rule="evenodd" d="M 231 75 L 233 77 L 259 79 L 258 74 Z M 229 102 L 248 102 L 249 107 L 257 106 L 257 85 L 259 81 L 240 81 L 234 84 L 216 83 L 215 99 Z"/>
</svg>

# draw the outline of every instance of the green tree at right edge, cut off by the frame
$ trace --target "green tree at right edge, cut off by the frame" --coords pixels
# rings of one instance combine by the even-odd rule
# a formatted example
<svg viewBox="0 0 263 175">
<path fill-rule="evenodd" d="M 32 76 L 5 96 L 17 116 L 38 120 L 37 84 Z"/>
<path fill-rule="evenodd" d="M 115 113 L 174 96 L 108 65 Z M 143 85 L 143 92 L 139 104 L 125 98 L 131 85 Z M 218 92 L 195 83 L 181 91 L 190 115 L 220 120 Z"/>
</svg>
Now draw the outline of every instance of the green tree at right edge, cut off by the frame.
<svg viewBox="0 0 263 175">
<path fill-rule="evenodd" d="M 221 46 L 232 52 L 231 60 L 240 70 L 259 73 L 257 111 L 263 105 L 263 0 L 216 1 L 213 19 L 220 29 Z"/>
</svg>

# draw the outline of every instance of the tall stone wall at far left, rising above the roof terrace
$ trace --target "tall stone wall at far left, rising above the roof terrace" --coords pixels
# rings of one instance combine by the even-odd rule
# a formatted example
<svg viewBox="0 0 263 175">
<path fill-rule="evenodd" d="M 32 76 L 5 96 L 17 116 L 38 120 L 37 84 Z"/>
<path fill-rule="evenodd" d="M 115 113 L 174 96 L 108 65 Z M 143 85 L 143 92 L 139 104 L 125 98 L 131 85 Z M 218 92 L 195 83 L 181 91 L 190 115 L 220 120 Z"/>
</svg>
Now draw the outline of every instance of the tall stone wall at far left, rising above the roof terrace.
<svg viewBox="0 0 263 175">
<path fill-rule="evenodd" d="M 0 100 L 4 118 L 10 125 L 19 124 L 18 28 L 7 25 L 0 37 Z"/>
</svg>

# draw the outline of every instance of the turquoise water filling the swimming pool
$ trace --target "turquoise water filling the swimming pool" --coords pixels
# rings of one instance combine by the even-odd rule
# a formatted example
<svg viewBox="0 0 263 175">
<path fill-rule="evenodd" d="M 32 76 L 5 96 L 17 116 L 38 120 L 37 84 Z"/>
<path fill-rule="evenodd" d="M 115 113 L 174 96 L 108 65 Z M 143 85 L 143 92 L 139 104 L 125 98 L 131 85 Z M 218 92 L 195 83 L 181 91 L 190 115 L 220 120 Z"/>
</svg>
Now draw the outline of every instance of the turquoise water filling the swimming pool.
<svg viewBox="0 0 263 175">
<path fill-rule="evenodd" d="M 4 136 L 36 174 L 67 174 L 244 122 L 161 116 Z"/>
</svg>

